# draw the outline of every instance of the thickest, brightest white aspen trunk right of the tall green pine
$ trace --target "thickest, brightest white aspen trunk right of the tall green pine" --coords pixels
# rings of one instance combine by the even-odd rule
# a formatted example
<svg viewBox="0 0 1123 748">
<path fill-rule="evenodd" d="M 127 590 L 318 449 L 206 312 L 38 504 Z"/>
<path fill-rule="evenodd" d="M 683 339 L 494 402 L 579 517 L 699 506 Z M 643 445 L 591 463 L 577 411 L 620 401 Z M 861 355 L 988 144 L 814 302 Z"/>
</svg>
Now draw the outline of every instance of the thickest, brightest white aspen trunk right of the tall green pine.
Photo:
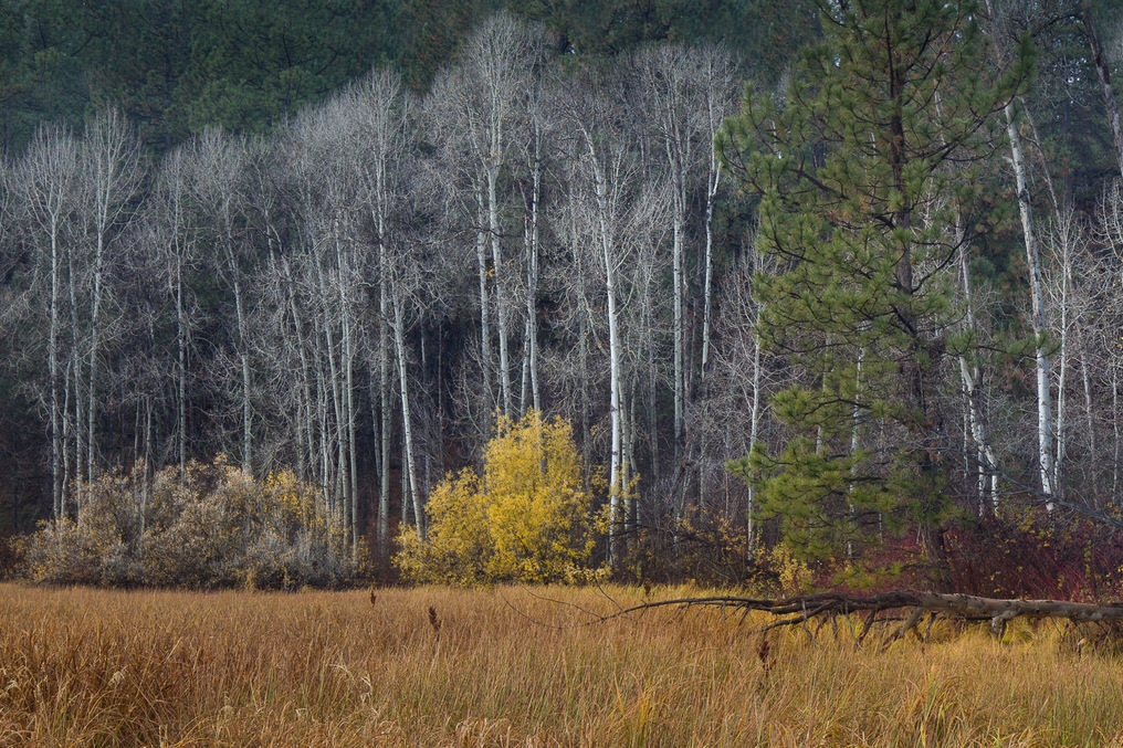
<svg viewBox="0 0 1123 748">
<path fill-rule="evenodd" d="M 1006 135 L 1010 139 L 1011 163 L 1014 167 L 1014 180 L 1017 189 L 1017 209 L 1022 218 L 1022 234 L 1025 239 L 1025 256 L 1030 270 L 1030 322 L 1034 335 L 1034 356 L 1038 386 L 1038 462 L 1041 477 L 1041 493 L 1046 496 L 1046 509 L 1052 511 L 1053 458 L 1052 458 L 1052 404 L 1049 381 L 1049 354 L 1046 348 L 1046 313 L 1044 292 L 1041 280 L 1041 256 L 1038 247 L 1037 232 L 1033 225 L 1033 208 L 1030 201 L 1025 157 L 1022 152 L 1022 138 L 1017 131 L 1012 103 L 1005 107 Z"/>
</svg>

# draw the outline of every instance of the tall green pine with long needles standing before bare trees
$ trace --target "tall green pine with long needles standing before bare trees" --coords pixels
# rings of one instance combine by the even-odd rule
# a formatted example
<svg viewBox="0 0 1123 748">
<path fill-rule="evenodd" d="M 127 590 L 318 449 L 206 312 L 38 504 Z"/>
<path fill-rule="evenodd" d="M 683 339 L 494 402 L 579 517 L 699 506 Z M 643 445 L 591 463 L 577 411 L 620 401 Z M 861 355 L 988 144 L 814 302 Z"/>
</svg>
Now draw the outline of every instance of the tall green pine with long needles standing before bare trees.
<svg viewBox="0 0 1123 748">
<path fill-rule="evenodd" d="M 757 334 L 796 381 L 773 399 L 786 444 L 730 468 L 797 553 L 911 528 L 939 569 L 953 265 L 973 164 L 1028 54 L 994 74 L 969 2 L 824 2 L 822 18 L 782 95 L 749 93 L 720 135 L 775 268 L 755 279 Z"/>
</svg>

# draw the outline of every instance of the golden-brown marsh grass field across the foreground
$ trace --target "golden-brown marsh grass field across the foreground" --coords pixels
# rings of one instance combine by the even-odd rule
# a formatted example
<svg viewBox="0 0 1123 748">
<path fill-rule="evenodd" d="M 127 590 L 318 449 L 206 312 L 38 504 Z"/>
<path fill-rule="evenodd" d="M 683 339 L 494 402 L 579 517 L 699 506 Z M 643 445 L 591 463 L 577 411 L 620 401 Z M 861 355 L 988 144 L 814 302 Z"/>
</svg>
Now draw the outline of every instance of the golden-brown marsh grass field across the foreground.
<svg viewBox="0 0 1123 748">
<path fill-rule="evenodd" d="M 655 589 L 650 599 L 697 594 Z M 1065 624 L 661 608 L 641 590 L 295 594 L 0 585 L 0 746 L 1084 746 L 1123 741 L 1123 659 Z"/>
</svg>

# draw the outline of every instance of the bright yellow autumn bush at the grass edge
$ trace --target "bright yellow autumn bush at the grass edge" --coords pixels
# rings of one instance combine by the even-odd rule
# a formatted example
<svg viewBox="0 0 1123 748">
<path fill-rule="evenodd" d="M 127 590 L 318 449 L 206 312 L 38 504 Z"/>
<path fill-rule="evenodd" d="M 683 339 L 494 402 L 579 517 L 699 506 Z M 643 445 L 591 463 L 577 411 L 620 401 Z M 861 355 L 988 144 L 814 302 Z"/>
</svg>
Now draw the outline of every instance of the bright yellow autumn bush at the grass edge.
<svg viewBox="0 0 1123 748">
<path fill-rule="evenodd" d="M 429 496 L 429 529 L 399 537 L 411 581 L 457 585 L 576 582 L 593 550 L 590 495 L 573 429 L 529 411 L 501 418 L 483 474 L 449 474 Z"/>
</svg>

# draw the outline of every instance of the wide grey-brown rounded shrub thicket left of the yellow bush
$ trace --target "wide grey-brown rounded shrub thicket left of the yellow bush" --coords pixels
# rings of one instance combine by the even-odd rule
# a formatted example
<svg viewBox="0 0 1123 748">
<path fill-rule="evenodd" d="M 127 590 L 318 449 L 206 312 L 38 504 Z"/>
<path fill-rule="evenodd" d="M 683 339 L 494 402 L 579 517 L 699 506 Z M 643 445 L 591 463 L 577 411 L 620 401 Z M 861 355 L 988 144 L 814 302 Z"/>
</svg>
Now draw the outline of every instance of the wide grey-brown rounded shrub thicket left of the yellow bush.
<svg viewBox="0 0 1123 748">
<path fill-rule="evenodd" d="M 181 476 L 144 466 L 80 486 L 76 518 L 28 538 L 36 582 L 103 586 L 337 587 L 355 564 L 316 486 L 291 471 L 264 481 L 218 458 Z"/>
</svg>

